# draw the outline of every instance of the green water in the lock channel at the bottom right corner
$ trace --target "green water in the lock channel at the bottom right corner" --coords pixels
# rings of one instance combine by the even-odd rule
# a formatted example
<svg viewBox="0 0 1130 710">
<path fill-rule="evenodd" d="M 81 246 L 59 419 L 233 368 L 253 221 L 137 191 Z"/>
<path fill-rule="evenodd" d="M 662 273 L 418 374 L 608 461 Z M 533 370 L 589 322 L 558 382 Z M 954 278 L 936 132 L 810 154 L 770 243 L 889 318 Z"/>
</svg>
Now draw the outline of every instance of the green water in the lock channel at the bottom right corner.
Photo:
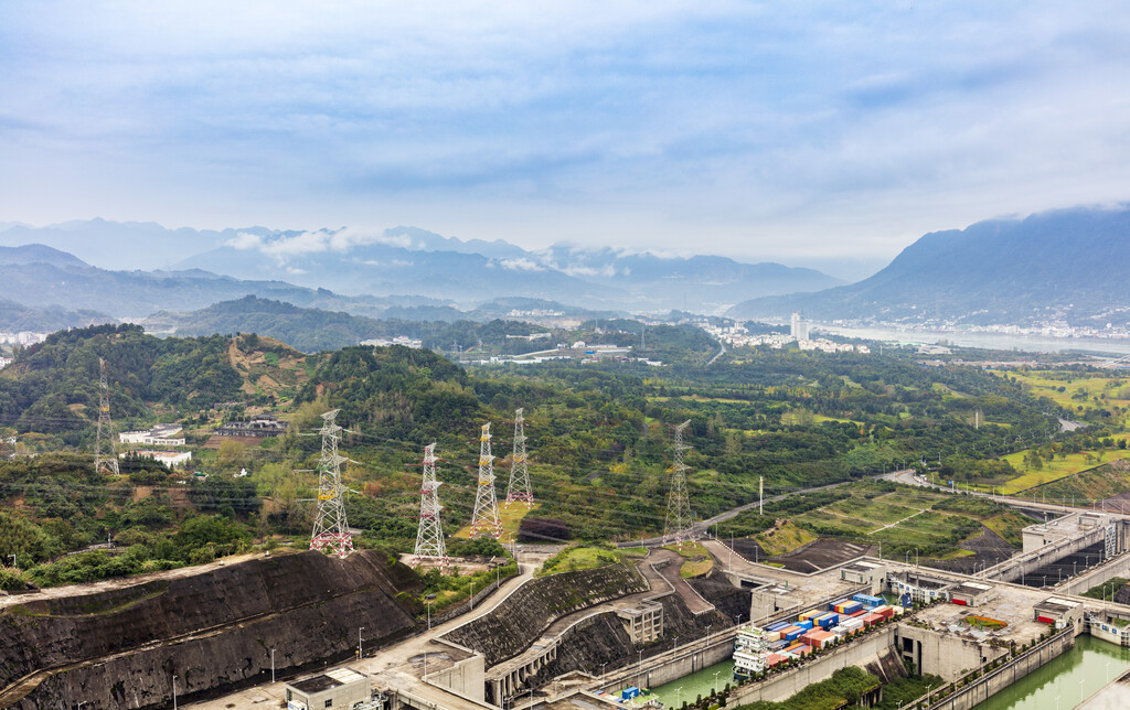
<svg viewBox="0 0 1130 710">
<path fill-rule="evenodd" d="M 1074 649 L 973 710 L 1070 710 L 1128 669 L 1130 648 L 1084 634 L 1076 638 Z"/>
</svg>

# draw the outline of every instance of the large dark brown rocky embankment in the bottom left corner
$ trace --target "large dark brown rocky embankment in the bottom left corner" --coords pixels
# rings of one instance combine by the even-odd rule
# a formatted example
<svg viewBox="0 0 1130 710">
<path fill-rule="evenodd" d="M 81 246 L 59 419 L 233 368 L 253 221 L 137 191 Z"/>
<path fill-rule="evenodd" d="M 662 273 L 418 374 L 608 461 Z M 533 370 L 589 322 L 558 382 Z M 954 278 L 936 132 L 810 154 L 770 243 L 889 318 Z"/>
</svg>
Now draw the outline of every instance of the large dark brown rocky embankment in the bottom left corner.
<svg viewBox="0 0 1130 710">
<path fill-rule="evenodd" d="M 0 611 L 0 707 L 156 708 L 348 658 L 415 630 L 398 597 L 418 585 L 386 556 L 250 560 Z"/>
</svg>

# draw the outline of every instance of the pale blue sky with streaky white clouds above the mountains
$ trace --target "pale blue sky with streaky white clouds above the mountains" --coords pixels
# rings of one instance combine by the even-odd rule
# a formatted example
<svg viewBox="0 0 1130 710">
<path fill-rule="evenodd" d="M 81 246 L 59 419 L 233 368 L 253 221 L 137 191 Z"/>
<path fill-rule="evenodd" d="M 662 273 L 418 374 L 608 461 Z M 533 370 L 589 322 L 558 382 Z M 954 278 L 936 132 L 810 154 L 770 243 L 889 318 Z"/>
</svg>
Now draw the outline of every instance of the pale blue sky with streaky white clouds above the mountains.
<svg viewBox="0 0 1130 710">
<path fill-rule="evenodd" d="M 7 1 L 0 221 L 888 260 L 1130 199 L 1128 89 L 1119 1 Z"/>
</svg>

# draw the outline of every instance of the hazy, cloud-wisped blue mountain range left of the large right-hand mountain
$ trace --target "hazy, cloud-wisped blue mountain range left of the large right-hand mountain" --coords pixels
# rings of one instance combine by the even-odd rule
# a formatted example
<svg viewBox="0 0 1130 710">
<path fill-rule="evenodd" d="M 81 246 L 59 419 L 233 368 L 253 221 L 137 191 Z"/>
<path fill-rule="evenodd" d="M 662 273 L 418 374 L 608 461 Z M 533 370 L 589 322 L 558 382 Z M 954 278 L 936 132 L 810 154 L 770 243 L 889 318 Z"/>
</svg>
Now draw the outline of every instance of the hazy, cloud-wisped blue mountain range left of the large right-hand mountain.
<svg viewBox="0 0 1130 710">
<path fill-rule="evenodd" d="M 502 240 L 462 242 L 411 227 L 198 231 L 89 220 L 43 228 L 8 225 L 0 244 L 18 252 L 0 256 L 0 298 L 118 318 L 191 310 L 247 295 L 366 315 L 388 307 L 386 297 L 405 295 L 426 297 L 411 306 L 441 309 L 528 297 L 621 313 L 719 312 L 744 298 L 841 283 L 775 263 L 564 245 L 530 252 Z"/>
</svg>

